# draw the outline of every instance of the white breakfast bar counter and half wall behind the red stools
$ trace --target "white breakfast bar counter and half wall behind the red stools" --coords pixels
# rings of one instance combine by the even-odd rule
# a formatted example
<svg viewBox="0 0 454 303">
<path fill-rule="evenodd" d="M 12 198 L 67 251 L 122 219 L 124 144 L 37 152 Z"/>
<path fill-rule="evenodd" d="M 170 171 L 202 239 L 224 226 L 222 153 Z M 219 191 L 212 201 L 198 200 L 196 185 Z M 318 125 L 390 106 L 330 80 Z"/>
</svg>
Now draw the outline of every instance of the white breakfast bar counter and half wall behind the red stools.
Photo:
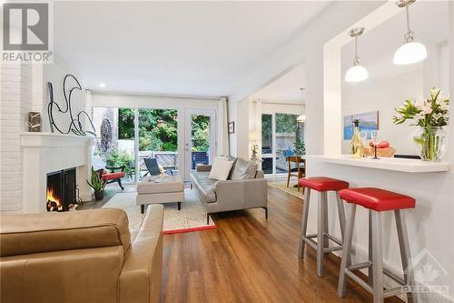
<svg viewBox="0 0 454 303">
<path fill-rule="evenodd" d="M 439 276 L 430 283 L 449 288 L 447 298 L 454 298 L 454 175 L 450 162 L 425 162 L 415 159 L 371 158 L 354 159 L 350 155 L 306 156 L 307 177 L 334 177 L 350 183 L 350 187 L 379 187 L 414 197 L 416 207 L 407 209 L 406 225 L 410 239 L 410 254 L 415 273 L 424 266 L 436 268 Z M 317 192 L 311 196 L 318 195 Z M 335 201 L 333 193 L 329 201 Z M 317 197 L 311 197 L 317 201 Z M 317 230 L 317 203 L 310 205 L 308 230 Z M 353 233 L 353 260 L 368 259 L 368 213 L 358 207 Z M 329 228 L 341 237 L 337 208 L 329 203 Z M 394 272 L 401 272 L 400 249 L 394 217 L 383 213 L 384 264 Z M 429 263 L 428 263 L 429 262 Z M 417 274 L 417 280 L 418 280 Z M 385 279 L 385 286 L 390 283 Z M 390 284 L 393 285 L 394 284 Z M 433 284 L 432 284 L 433 285 Z"/>
</svg>

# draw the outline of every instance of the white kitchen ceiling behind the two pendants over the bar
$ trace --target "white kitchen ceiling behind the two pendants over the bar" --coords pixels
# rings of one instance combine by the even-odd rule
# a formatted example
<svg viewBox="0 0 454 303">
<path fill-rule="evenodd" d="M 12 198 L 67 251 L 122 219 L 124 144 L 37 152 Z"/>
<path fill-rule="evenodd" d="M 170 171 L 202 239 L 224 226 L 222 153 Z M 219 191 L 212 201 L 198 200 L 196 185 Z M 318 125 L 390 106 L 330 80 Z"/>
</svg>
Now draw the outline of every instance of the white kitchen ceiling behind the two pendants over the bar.
<svg viewBox="0 0 454 303">
<path fill-rule="evenodd" d="M 410 28 L 415 33 L 416 41 L 428 47 L 428 56 L 433 55 L 429 46 L 447 42 L 449 39 L 448 2 L 415 2 L 410 6 Z M 422 63 L 408 66 L 396 66 L 392 63 L 395 51 L 403 44 L 406 31 L 406 15 L 402 9 L 400 14 L 375 28 L 366 28 L 364 34 L 360 35 L 358 40 L 360 63 L 368 69 L 370 78 L 396 76 L 422 68 Z M 341 50 L 342 75 L 345 75 L 352 65 L 353 56 L 354 43 L 351 41 Z"/>
</svg>

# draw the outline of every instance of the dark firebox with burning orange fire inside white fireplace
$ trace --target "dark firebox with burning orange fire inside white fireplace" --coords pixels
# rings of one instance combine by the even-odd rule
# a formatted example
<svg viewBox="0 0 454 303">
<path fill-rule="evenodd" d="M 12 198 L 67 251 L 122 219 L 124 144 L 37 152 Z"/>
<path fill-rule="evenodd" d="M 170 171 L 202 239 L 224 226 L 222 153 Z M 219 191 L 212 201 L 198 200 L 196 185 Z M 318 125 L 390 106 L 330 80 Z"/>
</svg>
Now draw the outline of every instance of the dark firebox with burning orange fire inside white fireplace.
<svg viewBox="0 0 454 303">
<path fill-rule="evenodd" d="M 47 211 L 67 211 L 75 203 L 75 168 L 47 174 Z"/>
</svg>

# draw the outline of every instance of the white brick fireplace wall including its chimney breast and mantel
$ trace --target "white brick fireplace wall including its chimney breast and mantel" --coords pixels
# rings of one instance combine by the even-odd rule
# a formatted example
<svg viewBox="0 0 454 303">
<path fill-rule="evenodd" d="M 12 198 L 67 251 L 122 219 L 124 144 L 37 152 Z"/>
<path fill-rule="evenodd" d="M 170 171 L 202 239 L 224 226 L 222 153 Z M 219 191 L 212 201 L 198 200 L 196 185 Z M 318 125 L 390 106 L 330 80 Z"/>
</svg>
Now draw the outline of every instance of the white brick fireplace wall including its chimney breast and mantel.
<svg viewBox="0 0 454 303">
<path fill-rule="evenodd" d="M 0 213 L 46 211 L 46 174 L 72 167 L 77 167 L 80 196 L 90 200 L 85 179 L 89 177 L 94 139 L 51 133 L 47 116 L 47 82 L 54 84 L 55 100 L 64 106 L 63 80 L 67 74 L 74 73 L 57 63 L 0 66 Z M 79 79 L 84 86 L 82 77 Z M 83 91 L 74 96 L 75 112 L 91 113 L 89 95 Z M 43 132 L 27 132 L 31 111 L 41 113 Z M 65 130 L 71 122 L 63 113 L 55 113 L 54 118 Z"/>
</svg>

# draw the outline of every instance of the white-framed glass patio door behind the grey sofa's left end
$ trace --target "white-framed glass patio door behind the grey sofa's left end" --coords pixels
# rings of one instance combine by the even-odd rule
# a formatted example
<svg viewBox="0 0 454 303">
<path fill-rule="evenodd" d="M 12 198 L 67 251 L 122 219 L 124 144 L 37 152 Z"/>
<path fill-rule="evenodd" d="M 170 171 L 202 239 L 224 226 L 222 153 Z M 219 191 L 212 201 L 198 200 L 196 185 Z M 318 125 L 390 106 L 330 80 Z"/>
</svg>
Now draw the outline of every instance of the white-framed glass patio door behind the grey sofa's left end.
<svg viewBox="0 0 454 303">
<path fill-rule="evenodd" d="M 216 152 L 214 109 L 186 109 L 184 134 L 184 179 L 197 165 L 211 164 Z"/>
</svg>

